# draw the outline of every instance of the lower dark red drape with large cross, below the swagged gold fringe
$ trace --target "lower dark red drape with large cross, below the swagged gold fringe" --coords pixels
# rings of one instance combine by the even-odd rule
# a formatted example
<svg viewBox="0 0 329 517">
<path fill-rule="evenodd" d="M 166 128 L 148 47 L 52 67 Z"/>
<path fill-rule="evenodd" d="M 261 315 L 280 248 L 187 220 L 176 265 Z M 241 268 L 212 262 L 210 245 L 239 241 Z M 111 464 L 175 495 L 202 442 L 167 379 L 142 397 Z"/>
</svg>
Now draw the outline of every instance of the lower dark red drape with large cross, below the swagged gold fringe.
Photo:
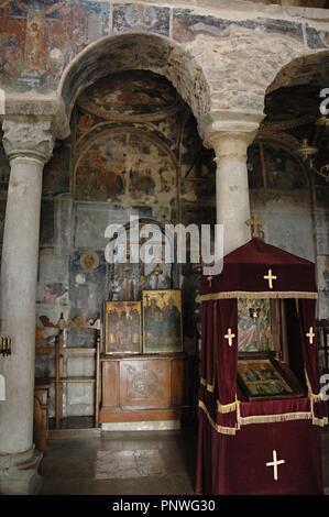
<svg viewBox="0 0 329 517">
<path fill-rule="evenodd" d="M 308 420 L 244 426 L 235 436 L 216 432 L 199 418 L 198 494 L 322 494 L 320 428 Z M 273 451 L 285 463 L 274 480 Z"/>
</svg>

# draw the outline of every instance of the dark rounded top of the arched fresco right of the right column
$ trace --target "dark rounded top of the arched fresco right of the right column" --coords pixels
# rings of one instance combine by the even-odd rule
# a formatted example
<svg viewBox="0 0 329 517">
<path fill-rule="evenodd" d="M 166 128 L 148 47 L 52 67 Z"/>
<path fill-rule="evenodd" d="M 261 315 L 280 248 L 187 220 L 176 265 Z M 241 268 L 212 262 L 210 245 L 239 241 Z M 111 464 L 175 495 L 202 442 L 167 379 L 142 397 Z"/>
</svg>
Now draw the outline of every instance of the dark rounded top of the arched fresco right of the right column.
<svg viewBox="0 0 329 517">
<path fill-rule="evenodd" d="M 306 174 L 292 153 L 283 147 L 255 143 L 249 148 L 250 188 L 296 190 L 308 188 Z"/>
</svg>

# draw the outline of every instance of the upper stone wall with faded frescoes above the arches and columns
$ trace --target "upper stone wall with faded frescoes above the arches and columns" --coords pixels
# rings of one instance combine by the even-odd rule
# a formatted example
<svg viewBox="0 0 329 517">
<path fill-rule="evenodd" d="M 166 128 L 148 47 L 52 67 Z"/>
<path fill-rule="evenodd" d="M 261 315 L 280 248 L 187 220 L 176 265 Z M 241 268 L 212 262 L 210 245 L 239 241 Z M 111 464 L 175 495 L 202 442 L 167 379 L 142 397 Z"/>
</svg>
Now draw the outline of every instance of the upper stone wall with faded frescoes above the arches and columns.
<svg viewBox="0 0 329 517">
<path fill-rule="evenodd" d="M 197 118 L 215 110 L 262 112 L 266 88 L 283 66 L 329 46 L 321 10 L 252 2 L 23 0 L 2 2 L 0 13 L 0 86 L 12 99 L 26 99 L 30 91 L 55 96 L 64 74 L 59 92 L 74 88 L 87 66 L 87 55 L 78 62 L 75 56 L 87 47 L 95 56 L 96 42 L 138 32 L 168 45 L 169 67 L 152 55 L 151 41 L 146 62 L 144 52 L 134 53 L 134 67 L 162 70 Z M 124 61 L 114 63 L 118 69 Z M 96 62 L 88 61 L 100 74 Z"/>
</svg>

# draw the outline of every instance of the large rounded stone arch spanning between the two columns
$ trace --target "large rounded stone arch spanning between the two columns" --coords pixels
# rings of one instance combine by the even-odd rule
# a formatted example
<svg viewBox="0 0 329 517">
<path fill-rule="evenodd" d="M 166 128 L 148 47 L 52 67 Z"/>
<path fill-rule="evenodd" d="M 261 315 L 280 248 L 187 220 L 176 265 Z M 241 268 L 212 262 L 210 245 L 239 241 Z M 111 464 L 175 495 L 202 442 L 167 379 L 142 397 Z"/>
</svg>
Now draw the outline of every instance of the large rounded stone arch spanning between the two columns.
<svg viewBox="0 0 329 517">
<path fill-rule="evenodd" d="M 190 52 L 164 36 L 129 33 L 91 43 L 66 66 L 58 95 L 67 116 L 70 117 L 84 89 L 111 73 L 129 69 L 151 70 L 166 77 L 198 121 L 209 111 L 208 80 Z"/>
</svg>

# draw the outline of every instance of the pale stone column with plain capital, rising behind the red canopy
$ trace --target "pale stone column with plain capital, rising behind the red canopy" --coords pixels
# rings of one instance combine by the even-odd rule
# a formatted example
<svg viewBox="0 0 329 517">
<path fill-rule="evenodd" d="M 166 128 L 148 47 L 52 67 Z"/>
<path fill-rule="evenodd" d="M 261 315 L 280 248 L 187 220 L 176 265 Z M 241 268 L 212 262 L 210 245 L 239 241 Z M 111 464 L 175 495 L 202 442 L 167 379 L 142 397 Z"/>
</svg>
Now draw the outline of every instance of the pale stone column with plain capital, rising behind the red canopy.
<svg viewBox="0 0 329 517">
<path fill-rule="evenodd" d="M 223 224 L 224 255 L 250 240 L 245 221 L 250 218 L 246 150 L 253 142 L 259 122 L 220 120 L 205 131 L 205 144 L 216 154 L 217 223 Z"/>
</svg>

